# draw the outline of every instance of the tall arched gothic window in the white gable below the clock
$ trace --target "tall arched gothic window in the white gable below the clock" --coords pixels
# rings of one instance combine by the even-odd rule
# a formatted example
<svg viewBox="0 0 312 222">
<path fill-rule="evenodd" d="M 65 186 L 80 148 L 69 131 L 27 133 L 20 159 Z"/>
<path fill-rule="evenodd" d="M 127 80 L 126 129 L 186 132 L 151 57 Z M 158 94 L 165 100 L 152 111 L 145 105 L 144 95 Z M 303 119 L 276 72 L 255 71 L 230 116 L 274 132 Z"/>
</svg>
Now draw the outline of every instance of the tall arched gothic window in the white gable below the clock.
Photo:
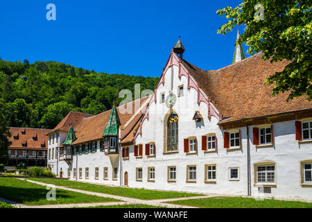
<svg viewBox="0 0 312 222">
<path fill-rule="evenodd" d="M 167 151 L 177 151 L 178 145 L 178 121 L 177 114 L 171 114 L 167 125 Z"/>
</svg>

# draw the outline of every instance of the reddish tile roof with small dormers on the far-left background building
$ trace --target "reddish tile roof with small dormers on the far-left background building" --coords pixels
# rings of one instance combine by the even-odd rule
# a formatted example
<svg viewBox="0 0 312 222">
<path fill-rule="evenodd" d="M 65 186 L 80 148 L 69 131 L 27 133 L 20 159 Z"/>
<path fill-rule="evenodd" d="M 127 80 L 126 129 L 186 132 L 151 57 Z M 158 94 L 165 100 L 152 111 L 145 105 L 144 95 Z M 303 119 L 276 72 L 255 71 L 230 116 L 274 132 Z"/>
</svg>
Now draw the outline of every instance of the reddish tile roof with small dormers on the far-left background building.
<svg viewBox="0 0 312 222">
<path fill-rule="evenodd" d="M 48 136 L 46 134 L 50 131 L 51 129 L 10 127 L 11 137 L 9 139 L 12 142 L 10 148 L 46 149 L 48 148 Z M 22 144 L 27 144 L 27 146 L 22 146 Z"/>
</svg>

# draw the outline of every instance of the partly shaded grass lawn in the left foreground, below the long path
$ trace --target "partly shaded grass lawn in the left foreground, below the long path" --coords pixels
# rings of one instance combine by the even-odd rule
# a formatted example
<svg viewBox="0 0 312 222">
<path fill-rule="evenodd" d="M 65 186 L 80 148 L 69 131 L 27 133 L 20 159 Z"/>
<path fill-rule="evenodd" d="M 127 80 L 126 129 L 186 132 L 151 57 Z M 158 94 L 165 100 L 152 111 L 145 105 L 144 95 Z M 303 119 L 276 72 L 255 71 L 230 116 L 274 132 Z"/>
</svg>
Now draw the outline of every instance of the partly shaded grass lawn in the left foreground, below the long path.
<svg viewBox="0 0 312 222">
<path fill-rule="evenodd" d="M 56 189 L 56 199 L 46 200 L 49 192 L 44 186 L 16 178 L 0 178 L 0 197 L 25 205 L 52 205 L 65 203 L 98 203 L 116 202 L 112 198 L 80 194 L 62 189 Z"/>
</svg>

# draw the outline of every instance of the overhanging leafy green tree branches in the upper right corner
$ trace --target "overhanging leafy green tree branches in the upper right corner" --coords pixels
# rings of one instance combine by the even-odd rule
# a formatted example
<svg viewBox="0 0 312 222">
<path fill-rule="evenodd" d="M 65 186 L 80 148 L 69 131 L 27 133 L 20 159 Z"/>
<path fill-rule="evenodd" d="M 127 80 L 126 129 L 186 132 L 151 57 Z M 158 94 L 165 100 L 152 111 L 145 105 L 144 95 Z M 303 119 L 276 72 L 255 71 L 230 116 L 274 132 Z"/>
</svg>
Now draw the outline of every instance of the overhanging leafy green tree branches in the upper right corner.
<svg viewBox="0 0 312 222">
<path fill-rule="evenodd" d="M 266 79 L 275 84 L 273 95 L 290 92 L 288 101 L 306 95 L 312 100 L 312 1 L 305 0 L 243 0 L 236 8 L 217 11 L 226 24 L 218 33 L 226 34 L 234 26 L 245 26 L 238 43 L 250 46 L 252 55 L 261 51 L 263 60 L 289 60 L 283 71 Z"/>
</svg>

